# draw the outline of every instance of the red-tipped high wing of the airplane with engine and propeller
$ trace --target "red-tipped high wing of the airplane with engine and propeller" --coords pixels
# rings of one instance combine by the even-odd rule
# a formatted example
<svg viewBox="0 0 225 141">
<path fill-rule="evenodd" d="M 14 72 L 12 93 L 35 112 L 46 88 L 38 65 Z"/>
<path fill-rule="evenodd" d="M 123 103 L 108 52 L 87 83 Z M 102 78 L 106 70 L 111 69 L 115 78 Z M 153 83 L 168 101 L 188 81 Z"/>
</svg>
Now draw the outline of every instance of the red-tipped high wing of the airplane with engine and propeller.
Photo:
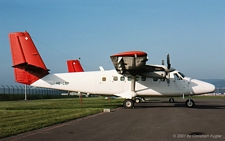
<svg viewBox="0 0 225 141">
<path fill-rule="evenodd" d="M 147 53 L 142 51 L 122 52 L 114 54 L 110 56 L 110 58 L 117 72 L 122 75 L 140 75 L 150 78 L 166 78 L 168 72 L 175 70 L 174 68 L 171 68 L 169 55 L 167 56 L 168 66 L 147 65 Z"/>
</svg>

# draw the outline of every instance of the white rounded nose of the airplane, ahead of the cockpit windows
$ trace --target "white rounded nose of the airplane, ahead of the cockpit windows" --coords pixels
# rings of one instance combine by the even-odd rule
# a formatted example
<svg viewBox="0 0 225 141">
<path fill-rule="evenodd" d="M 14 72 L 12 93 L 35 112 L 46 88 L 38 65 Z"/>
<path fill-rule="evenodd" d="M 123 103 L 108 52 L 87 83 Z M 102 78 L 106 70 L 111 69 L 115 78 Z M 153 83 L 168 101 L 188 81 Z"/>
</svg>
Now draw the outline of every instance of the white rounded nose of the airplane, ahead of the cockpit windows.
<svg viewBox="0 0 225 141">
<path fill-rule="evenodd" d="M 191 80 L 191 89 L 193 94 L 207 94 L 215 91 L 215 86 L 197 79 Z"/>
</svg>

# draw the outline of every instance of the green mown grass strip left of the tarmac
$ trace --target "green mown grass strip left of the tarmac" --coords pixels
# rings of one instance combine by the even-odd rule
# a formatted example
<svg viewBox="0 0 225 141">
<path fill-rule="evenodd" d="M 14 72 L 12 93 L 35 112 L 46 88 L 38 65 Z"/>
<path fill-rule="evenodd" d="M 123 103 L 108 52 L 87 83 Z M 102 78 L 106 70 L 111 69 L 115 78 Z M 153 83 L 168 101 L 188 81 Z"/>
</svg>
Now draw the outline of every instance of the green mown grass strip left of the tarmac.
<svg viewBox="0 0 225 141">
<path fill-rule="evenodd" d="M 0 138 L 122 106 L 121 99 L 79 98 L 0 102 Z"/>
</svg>

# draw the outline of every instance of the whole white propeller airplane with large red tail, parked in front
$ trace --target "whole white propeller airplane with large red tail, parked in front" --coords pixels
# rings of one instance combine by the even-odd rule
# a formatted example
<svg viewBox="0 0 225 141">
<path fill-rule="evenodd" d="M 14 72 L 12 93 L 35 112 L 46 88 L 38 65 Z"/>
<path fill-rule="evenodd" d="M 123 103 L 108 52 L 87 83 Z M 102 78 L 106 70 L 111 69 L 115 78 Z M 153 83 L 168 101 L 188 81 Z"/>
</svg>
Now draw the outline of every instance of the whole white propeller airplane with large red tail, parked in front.
<svg viewBox="0 0 225 141">
<path fill-rule="evenodd" d="M 91 93 L 124 98 L 123 107 L 134 108 L 139 98 L 189 96 L 187 107 L 194 107 L 193 95 L 211 93 L 215 86 L 186 77 L 167 65 L 146 64 L 147 53 L 128 51 L 111 55 L 115 70 L 49 73 L 28 32 L 9 33 L 15 81 L 35 87 Z"/>
</svg>

